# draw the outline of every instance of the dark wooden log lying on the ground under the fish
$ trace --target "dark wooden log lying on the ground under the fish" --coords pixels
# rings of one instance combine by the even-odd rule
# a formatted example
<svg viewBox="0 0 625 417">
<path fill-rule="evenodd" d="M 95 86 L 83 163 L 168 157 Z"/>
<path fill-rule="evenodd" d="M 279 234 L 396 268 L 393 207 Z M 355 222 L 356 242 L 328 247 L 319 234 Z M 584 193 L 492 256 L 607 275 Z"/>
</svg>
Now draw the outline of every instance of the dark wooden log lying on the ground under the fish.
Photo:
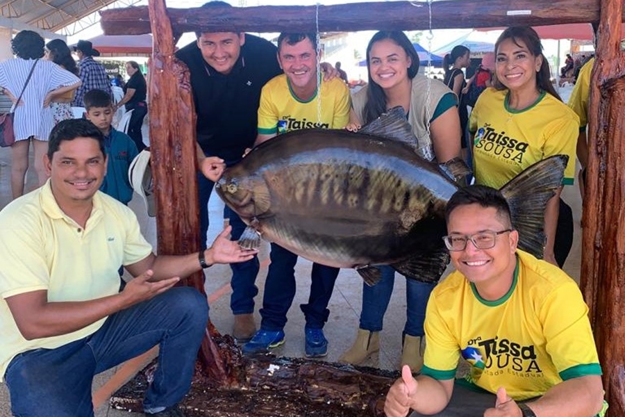
<svg viewBox="0 0 625 417">
<path fill-rule="evenodd" d="M 310 359 L 273 355 L 242 357 L 231 336 L 216 338 L 230 345 L 233 375 L 238 383 L 215 386 L 201 372 L 180 406 L 187 416 L 213 417 L 363 417 L 383 416 L 385 395 L 399 377 L 397 371 L 352 367 Z M 117 409 L 142 411 L 149 366 L 111 398 Z"/>
</svg>

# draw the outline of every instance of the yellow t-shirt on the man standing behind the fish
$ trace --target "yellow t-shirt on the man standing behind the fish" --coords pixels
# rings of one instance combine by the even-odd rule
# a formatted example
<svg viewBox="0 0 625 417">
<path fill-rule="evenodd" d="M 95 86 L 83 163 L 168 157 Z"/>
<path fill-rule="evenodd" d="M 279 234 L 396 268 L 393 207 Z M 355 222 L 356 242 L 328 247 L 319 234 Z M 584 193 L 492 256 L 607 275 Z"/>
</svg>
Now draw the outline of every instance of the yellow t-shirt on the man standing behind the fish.
<svg viewBox="0 0 625 417">
<path fill-rule="evenodd" d="M 339 79 L 321 81 L 321 120 L 315 94 L 301 101 L 291 90 L 285 74 L 269 80 L 260 93 L 258 133 L 272 135 L 298 129 L 342 129 L 349 121 L 351 99 L 347 85 Z"/>
</svg>

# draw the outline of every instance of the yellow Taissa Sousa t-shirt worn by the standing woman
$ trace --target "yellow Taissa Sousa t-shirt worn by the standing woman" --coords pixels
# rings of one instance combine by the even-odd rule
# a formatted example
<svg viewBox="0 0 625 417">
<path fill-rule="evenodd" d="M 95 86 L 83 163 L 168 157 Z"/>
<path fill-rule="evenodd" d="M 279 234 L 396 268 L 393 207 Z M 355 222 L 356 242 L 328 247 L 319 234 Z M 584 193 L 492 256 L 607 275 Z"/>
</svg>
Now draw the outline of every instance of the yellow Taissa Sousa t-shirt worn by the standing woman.
<svg viewBox="0 0 625 417">
<path fill-rule="evenodd" d="M 469 132 L 478 184 L 501 188 L 533 163 L 558 154 L 569 156 L 562 183 L 573 183 L 579 117 L 547 92 L 530 108 L 515 111 L 508 107 L 507 90 L 487 88 L 471 113 Z"/>
</svg>

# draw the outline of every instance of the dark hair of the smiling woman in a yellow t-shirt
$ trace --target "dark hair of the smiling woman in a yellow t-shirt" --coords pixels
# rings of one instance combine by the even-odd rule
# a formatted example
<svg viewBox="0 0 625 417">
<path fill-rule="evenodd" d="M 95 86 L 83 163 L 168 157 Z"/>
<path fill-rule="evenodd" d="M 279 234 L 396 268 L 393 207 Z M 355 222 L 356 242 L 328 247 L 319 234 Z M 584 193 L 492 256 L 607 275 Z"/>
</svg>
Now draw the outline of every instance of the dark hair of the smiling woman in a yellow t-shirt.
<svg viewBox="0 0 625 417">
<path fill-rule="evenodd" d="M 522 47 L 519 42 L 523 42 L 525 47 L 530 51 L 530 54 L 533 56 L 542 56 L 542 65 L 540 65 L 540 70 L 536 73 L 536 84 L 540 90 L 544 90 L 548 92 L 556 99 L 562 101 L 560 95 L 556 91 L 556 88 L 553 88 L 553 84 L 551 83 L 551 70 L 549 70 L 549 63 L 547 62 L 547 58 L 542 54 L 542 43 L 540 42 L 540 37 L 538 33 L 531 28 L 530 26 L 510 26 L 507 28 L 499 38 L 497 38 L 497 42 L 495 42 L 495 56 L 497 57 L 497 49 L 499 49 L 499 45 L 504 40 L 510 39 L 514 42 L 517 47 Z M 497 59 L 497 58 L 495 58 Z M 506 86 L 501 83 L 497 79 L 497 73 L 493 76 L 492 85 L 497 90 L 505 90 Z"/>
</svg>

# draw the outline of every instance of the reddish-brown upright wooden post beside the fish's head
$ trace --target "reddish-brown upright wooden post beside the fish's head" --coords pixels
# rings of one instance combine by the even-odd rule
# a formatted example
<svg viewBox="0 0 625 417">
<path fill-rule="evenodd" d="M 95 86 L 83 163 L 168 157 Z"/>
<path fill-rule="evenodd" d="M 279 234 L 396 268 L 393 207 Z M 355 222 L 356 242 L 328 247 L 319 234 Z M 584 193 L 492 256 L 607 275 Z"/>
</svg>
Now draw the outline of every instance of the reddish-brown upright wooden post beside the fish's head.
<svg viewBox="0 0 625 417">
<path fill-rule="evenodd" d="M 197 204 L 197 158 L 195 109 L 189 70 L 174 56 L 174 33 L 169 24 L 165 0 L 149 3 L 154 47 L 149 63 L 150 152 L 157 212 L 159 254 L 189 254 L 200 249 L 199 206 Z M 204 291 L 203 272 L 181 282 Z M 205 372 L 216 382 L 228 385 L 219 348 L 210 334 L 209 322 L 199 359 Z"/>
</svg>

